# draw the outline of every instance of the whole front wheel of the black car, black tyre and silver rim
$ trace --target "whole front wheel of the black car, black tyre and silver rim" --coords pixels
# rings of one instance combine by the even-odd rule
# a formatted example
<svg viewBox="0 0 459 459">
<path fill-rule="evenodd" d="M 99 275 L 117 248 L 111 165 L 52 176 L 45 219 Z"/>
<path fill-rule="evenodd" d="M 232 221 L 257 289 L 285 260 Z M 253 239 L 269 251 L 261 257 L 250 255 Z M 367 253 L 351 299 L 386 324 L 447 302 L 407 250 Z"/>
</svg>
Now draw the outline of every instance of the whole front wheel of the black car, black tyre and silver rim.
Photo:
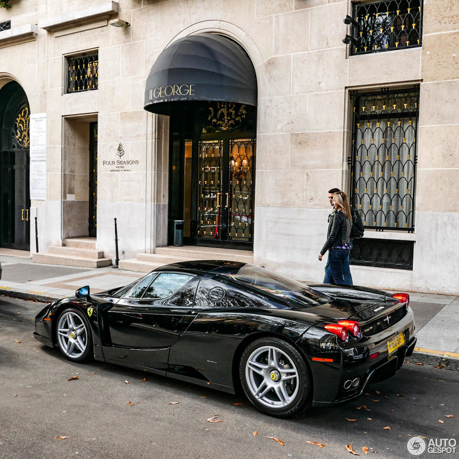
<svg viewBox="0 0 459 459">
<path fill-rule="evenodd" d="M 69 360 L 83 362 L 92 355 L 89 322 L 80 311 L 63 310 L 56 322 L 56 337 L 59 349 Z"/>
</svg>

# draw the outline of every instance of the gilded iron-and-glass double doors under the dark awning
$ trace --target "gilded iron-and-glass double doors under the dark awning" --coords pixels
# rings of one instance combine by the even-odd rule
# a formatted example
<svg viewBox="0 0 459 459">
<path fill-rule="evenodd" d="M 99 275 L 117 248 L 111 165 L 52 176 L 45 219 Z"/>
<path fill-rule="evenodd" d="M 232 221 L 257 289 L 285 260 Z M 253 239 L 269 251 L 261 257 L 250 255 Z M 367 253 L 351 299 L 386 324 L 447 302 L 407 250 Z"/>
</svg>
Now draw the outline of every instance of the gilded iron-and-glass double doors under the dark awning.
<svg viewBox="0 0 459 459">
<path fill-rule="evenodd" d="M 195 243 L 251 249 L 255 139 L 201 140 Z"/>
</svg>

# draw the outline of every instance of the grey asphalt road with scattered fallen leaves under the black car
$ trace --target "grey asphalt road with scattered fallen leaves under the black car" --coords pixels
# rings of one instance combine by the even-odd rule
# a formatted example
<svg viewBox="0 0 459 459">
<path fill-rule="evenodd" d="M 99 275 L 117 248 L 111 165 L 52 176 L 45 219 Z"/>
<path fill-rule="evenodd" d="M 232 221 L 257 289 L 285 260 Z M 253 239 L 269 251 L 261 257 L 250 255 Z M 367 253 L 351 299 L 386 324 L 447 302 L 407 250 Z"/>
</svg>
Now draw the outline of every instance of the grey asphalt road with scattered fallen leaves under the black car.
<svg viewBox="0 0 459 459">
<path fill-rule="evenodd" d="M 414 457 L 406 450 L 410 436 L 459 437 L 458 372 L 406 364 L 352 403 L 279 420 L 242 395 L 69 362 L 32 335 L 42 307 L 0 297 L 2 459 L 351 458 L 349 444 L 360 456 L 368 447 L 369 457 L 398 459 Z"/>
</svg>

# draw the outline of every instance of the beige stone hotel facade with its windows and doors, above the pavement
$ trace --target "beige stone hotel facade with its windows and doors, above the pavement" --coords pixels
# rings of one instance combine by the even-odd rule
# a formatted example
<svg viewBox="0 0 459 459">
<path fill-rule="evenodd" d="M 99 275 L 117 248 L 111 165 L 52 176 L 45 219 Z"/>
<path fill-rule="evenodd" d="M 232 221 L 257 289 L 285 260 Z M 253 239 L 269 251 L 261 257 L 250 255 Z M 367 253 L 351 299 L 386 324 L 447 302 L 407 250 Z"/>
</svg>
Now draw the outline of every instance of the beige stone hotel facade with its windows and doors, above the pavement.
<svg viewBox="0 0 459 459">
<path fill-rule="evenodd" d="M 337 187 L 366 225 L 355 284 L 457 294 L 458 30 L 444 0 L 12 0 L 0 246 L 36 252 L 37 217 L 40 252 L 92 235 L 114 259 L 116 218 L 121 263 L 171 245 L 183 219 L 188 244 L 318 282 Z M 193 46 L 209 36 L 249 59 L 255 102 L 194 93 Z M 184 80 L 148 87 L 178 43 Z M 229 55 L 215 59 L 234 70 Z"/>
</svg>

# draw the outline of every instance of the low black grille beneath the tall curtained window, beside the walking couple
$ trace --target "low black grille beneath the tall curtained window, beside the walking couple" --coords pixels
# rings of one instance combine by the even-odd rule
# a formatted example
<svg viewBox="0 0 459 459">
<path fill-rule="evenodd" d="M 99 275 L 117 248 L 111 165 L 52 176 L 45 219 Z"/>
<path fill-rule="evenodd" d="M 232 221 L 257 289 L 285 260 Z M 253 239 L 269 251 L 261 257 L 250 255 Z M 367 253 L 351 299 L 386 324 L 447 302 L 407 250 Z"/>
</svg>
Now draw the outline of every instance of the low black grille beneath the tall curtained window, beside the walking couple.
<svg viewBox="0 0 459 459">
<path fill-rule="evenodd" d="M 412 271 L 413 251 L 413 241 L 354 239 L 351 263 L 353 265 Z"/>
</svg>

